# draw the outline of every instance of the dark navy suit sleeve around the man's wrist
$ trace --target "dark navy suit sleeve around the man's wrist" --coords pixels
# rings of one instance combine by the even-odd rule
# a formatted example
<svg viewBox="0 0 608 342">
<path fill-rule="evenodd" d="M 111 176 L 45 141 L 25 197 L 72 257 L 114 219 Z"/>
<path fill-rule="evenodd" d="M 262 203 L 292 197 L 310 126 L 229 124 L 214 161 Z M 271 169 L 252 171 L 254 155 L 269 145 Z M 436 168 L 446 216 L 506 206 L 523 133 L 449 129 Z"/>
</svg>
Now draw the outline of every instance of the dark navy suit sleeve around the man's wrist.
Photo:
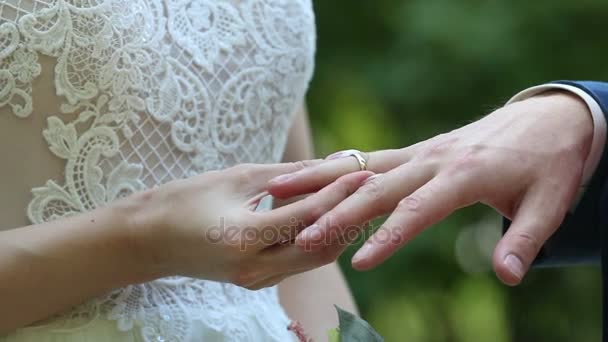
<svg viewBox="0 0 608 342">
<path fill-rule="evenodd" d="M 559 81 L 577 87 L 595 99 L 608 120 L 608 83 L 592 81 Z M 545 243 L 535 260 L 535 266 L 560 266 L 581 263 L 599 263 L 602 238 L 600 227 L 605 220 L 601 208 L 606 198 L 608 176 L 608 149 L 604 147 L 601 160 L 580 202 L 570 212 L 557 232 Z M 505 219 L 504 230 L 510 222 Z"/>
</svg>

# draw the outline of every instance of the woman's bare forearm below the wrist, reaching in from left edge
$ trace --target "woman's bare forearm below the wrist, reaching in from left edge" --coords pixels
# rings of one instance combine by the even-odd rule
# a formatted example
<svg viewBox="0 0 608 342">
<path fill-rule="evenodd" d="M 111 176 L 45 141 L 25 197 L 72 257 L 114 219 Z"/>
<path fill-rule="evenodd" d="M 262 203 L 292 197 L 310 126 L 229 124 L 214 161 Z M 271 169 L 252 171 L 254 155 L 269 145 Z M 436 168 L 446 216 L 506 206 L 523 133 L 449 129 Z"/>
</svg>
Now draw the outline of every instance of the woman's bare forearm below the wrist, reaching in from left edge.
<svg viewBox="0 0 608 342">
<path fill-rule="evenodd" d="M 154 278 L 134 258 L 122 201 L 0 232 L 0 335 L 104 291 Z"/>
</svg>

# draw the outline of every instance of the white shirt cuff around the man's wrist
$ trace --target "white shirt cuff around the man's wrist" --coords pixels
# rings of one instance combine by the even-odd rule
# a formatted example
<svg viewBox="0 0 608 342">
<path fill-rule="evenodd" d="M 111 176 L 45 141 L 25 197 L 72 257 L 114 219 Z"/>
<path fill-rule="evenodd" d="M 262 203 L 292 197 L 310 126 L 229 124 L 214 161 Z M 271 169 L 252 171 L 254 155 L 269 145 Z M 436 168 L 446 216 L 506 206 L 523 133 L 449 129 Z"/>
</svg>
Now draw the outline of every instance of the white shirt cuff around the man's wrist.
<svg viewBox="0 0 608 342">
<path fill-rule="evenodd" d="M 585 101 L 587 107 L 589 107 L 589 111 L 591 112 L 591 117 L 593 119 L 593 140 L 591 141 L 591 149 L 583 168 L 581 187 L 584 187 L 593 176 L 593 173 L 595 172 L 595 169 L 602 158 L 602 152 L 604 151 L 604 145 L 606 143 L 606 118 L 604 117 L 604 113 L 602 112 L 600 105 L 584 90 L 571 85 L 557 83 L 544 84 L 528 88 L 513 96 L 513 98 L 511 98 L 507 104 L 522 101 L 547 90 L 555 89 L 567 90 L 578 95 L 581 99 L 583 99 L 583 101 Z"/>
</svg>

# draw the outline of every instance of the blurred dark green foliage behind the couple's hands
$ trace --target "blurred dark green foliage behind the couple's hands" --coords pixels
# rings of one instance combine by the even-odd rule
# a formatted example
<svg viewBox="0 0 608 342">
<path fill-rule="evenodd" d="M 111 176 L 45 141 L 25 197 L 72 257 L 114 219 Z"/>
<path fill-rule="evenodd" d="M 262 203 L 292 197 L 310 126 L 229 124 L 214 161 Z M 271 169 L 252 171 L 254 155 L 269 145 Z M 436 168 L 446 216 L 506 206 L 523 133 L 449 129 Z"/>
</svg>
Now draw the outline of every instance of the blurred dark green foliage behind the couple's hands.
<svg viewBox="0 0 608 342">
<path fill-rule="evenodd" d="M 317 0 L 315 10 L 319 155 L 407 146 L 550 80 L 608 79 L 605 0 Z M 535 270 L 507 288 L 488 261 L 498 230 L 490 210 L 469 208 L 374 271 L 352 271 L 355 248 L 341 262 L 387 341 L 599 341 L 599 270 Z"/>
</svg>

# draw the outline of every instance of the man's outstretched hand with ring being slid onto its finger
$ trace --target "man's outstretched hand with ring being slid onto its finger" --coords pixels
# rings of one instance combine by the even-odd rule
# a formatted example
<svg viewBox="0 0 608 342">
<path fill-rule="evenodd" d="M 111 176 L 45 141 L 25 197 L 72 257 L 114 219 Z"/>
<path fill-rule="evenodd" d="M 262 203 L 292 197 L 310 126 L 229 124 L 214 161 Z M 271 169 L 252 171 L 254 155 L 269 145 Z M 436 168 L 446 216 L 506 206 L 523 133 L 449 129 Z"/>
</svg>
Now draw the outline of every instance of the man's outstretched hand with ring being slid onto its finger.
<svg viewBox="0 0 608 342">
<path fill-rule="evenodd" d="M 555 92 L 411 147 L 373 152 L 368 168 L 383 174 L 325 213 L 297 242 L 323 248 L 349 227 L 392 212 L 353 258 L 355 268 L 370 269 L 456 209 L 481 202 L 513 221 L 493 263 L 503 282 L 516 285 L 571 206 L 592 134 L 585 103 Z M 348 154 L 330 159 L 272 180 L 271 194 L 314 192 L 356 170 Z"/>
</svg>

